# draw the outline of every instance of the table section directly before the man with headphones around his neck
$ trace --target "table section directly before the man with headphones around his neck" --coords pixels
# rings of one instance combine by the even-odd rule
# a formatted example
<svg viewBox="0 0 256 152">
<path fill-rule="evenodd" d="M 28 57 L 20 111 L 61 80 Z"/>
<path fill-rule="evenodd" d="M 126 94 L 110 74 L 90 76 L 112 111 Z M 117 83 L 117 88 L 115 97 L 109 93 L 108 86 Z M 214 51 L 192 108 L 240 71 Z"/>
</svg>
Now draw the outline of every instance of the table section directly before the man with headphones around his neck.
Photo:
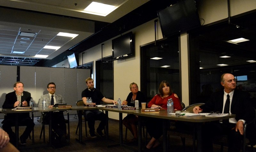
<svg viewBox="0 0 256 152">
<path fill-rule="evenodd" d="M 86 106 L 74 106 L 71 110 L 78 111 L 78 124 L 79 124 L 79 139 L 76 139 L 81 144 L 85 143 L 82 141 L 82 110 L 96 110 L 96 107 L 86 107 Z"/>
</svg>

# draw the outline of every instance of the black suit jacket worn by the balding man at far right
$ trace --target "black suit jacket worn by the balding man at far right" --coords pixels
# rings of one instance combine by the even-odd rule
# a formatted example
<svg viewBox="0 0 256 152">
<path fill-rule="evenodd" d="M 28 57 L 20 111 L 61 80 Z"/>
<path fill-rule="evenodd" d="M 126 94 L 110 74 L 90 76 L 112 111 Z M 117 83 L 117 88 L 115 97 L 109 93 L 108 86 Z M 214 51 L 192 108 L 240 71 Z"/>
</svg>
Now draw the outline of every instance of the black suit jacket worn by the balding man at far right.
<svg viewBox="0 0 256 152">
<path fill-rule="evenodd" d="M 223 109 L 224 91 L 212 93 L 207 103 L 200 106 L 204 113 L 210 111 L 219 111 L 222 113 Z M 255 111 L 251 105 L 250 95 L 247 92 L 235 90 L 230 107 L 231 113 L 236 114 L 236 121 L 243 119 L 247 123 L 252 121 L 255 117 Z"/>
</svg>

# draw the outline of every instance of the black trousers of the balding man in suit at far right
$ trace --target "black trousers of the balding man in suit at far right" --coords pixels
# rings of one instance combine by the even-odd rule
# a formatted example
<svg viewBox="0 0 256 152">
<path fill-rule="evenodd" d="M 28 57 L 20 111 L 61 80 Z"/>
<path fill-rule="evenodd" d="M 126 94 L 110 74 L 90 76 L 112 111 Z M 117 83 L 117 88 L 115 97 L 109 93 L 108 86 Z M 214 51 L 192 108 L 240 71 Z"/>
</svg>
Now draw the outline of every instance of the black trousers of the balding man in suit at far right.
<svg viewBox="0 0 256 152">
<path fill-rule="evenodd" d="M 212 138 L 217 135 L 228 135 L 228 152 L 239 152 L 242 146 L 243 135 L 235 129 L 236 124 L 222 124 L 219 122 L 205 123 L 202 128 L 203 151 L 212 150 Z"/>
</svg>

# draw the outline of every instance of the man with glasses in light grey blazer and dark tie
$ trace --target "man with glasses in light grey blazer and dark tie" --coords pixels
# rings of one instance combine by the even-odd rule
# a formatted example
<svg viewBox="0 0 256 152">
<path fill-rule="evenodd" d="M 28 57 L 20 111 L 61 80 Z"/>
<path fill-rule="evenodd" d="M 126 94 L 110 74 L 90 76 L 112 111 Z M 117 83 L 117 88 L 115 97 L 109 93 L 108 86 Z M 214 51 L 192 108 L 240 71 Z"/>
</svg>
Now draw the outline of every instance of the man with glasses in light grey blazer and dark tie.
<svg viewBox="0 0 256 152">
<path fill-rule="evenodd" d="M 65 103 L 61 95 L 55 94 L 55 91 L 56 91 L 55 83 L 50 82 L 49 84 L 47 84 L 47 91 L 49 93 L 41 96 L 38 103 L 38 107 L 43 107 L 42 101 L 44 98 L 46 101 L 46 106 L 48 105 L 49 108 L 53 107 L 53 105 L 56 103 Z M 43 116 L 40 117 L 40 123 L 44 121 L 44 123 L 49 124 L 49 120 L 50 120 L 49 113 L 45 114 L 44 120 L 43 120 Z M 58 140 L 60 140 L 60 143 L 62 145 L 65 145 L 67 143 L 67 130 L 66 130 L 66 123 L 65 123 L 63 111 L 56 111 L 52 113 L 52 129 L 58 135 Z"/>
</svg>

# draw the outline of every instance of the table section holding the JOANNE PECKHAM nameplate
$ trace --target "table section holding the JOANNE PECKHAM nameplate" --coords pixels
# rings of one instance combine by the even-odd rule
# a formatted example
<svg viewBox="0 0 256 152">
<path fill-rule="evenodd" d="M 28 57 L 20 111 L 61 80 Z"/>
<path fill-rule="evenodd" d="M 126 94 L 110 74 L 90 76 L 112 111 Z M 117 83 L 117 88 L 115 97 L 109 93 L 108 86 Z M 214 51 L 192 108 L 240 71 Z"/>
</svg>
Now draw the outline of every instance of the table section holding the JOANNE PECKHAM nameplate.
<svg viewBox="0 0 256 152">
<path fill-rule="evenodd" d="M 106 111 L 106 139 L 108 139 L 108 111 L 118 112 L 119 113 L 119 144 L 117 144 L 117 145 L 134 150 L 133 148 L 131 148 L 123 143 L 123 113 L 133 114 L 135 110 L 122 110 L 122 109 L 118 109 L 116 107 L 113 107 L 113 108 L 97 107 L 97 108 L 99 110 Z M 139 110 L 137 110 L 137 111 L 139 111 Z M 108 147 L 111 147 L 111 146 L 116 146 L 116 145 L 109 145 Z"/>
</svg>

